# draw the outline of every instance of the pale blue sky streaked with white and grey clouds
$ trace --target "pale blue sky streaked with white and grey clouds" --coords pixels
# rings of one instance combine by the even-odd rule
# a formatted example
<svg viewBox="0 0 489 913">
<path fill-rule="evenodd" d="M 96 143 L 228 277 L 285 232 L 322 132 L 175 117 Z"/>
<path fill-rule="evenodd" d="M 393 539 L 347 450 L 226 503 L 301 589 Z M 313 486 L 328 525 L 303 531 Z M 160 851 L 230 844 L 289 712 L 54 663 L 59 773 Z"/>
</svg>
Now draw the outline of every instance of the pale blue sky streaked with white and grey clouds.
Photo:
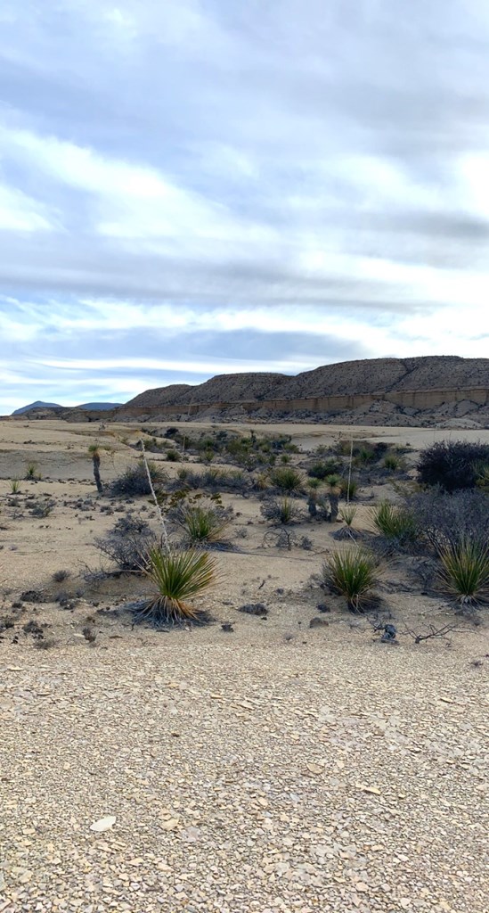
<svg viewBox="0 0 489 913">
<path fill-rule="evenodd" d="M 489 355 L 486 0 L 3 0 L 0 414 Z"/>
</svg>

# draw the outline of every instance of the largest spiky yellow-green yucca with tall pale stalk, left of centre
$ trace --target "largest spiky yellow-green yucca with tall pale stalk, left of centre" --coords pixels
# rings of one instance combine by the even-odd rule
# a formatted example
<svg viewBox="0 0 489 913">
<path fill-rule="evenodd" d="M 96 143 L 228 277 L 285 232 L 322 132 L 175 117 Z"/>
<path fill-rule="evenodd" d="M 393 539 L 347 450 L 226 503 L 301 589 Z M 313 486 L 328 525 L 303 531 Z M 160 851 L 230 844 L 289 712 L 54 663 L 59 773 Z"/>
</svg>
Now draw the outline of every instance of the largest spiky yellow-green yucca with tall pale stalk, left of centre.
<svg viewBox="0 0 489 913">
<path fill-rule="evenodd" d="M 135 623 L 148 622 L 153 627 L 168 624 L 204 624 L 202 610 L 188 603 L 218 580 L 217 564 L 206 551 L 163 551 L 151 548 L 141 570 L 156 589 L 156 593 L 138 606 Z"/>
</svg>

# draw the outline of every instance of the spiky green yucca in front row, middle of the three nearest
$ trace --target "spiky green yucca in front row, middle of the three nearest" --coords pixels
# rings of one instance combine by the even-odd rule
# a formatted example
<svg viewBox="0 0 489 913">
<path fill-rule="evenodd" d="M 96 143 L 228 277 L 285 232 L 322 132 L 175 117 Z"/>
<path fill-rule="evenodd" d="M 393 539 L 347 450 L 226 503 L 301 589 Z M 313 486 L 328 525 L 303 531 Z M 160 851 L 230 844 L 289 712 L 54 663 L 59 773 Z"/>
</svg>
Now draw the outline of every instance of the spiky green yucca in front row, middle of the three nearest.
<svg viewBox="0 0 489 913">
<path fill-rule="evenodd" d="M 322 576 L 328 587 L 345 596 L 350 612 L 363 612 L 369 593 L 379 582 L 379 561 L 359 548 L 335 551 L 324 561 Z"/>
</svg>

